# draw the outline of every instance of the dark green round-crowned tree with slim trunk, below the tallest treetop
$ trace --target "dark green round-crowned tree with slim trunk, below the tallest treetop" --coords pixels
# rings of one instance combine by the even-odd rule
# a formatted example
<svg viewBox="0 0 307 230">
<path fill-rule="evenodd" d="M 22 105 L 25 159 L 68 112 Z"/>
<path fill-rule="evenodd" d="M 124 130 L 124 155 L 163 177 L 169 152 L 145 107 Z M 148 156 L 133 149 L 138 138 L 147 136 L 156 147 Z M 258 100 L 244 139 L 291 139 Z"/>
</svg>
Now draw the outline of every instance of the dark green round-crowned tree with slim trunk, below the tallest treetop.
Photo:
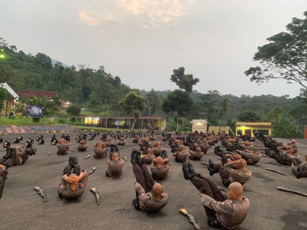
<svg viewBox="0 0 307 230">
<path fill-rule="evenodd" d="M 162 109 L 165 112 L 177 112 L 176 131 L 179 130 L 179 117 L 182 117 L 185 111 L 190 110 L 192 105 L 193 101 L 187 91 L 176 89 L 172 93 L 167 94 L 166 100 L 162 103 Z"/>
</svg>

